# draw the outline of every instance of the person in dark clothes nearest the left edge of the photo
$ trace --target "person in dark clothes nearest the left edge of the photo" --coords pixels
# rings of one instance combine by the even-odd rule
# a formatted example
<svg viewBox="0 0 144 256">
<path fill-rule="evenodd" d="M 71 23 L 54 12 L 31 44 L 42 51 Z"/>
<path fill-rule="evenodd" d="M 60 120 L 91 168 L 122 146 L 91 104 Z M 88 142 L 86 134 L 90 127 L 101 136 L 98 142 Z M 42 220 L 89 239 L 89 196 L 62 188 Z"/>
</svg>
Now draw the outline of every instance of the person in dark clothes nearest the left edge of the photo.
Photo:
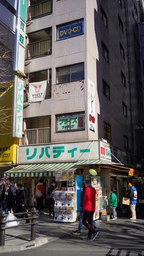
<svg viewBox="0 0 144 256">
<path fill-rule="evenodd" d="M 13 193 L 10 188 L 10 181 L 5 180 L 5 184 L 2 189 L 1 193 L 1 202 L 2 202 L 2 211 L 5 211 L 7 214 L 11 211 L 12 202 L 13 202 Z"/>
</svg>

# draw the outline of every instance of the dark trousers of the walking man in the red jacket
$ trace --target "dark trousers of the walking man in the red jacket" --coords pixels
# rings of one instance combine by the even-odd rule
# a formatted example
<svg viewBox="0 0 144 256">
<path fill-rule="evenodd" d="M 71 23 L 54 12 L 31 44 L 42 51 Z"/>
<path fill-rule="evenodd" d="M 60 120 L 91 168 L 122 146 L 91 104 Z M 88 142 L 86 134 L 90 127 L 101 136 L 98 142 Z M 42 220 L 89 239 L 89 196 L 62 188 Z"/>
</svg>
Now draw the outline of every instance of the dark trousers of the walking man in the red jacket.
<svg viewBox="0 0 144 256">
<path fill-rule="evenodd" d="M 92 238 L 94 229 L 93 229 L 93 211 L 84 211 L 82 224 L 85 225 L 88 229 L 88 238 Z"/>
</svg>

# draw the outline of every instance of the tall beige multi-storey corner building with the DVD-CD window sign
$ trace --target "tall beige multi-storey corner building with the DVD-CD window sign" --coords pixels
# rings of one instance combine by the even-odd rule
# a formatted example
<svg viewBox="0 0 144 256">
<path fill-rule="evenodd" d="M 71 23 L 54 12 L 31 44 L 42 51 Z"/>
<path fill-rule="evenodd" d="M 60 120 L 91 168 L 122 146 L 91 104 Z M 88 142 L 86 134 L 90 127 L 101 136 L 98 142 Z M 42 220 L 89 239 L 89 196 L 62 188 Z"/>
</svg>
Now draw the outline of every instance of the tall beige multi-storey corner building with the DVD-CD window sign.
<svg viewBox="0 0 144 256">
<path fill-rule="evenodd" d="M 121 196 L 129 168 L 141 165 L 144 150 L 141 1 L 29 0 L 28 6 L 24 134 L 18 151 L 18 164 L 27 166 L 15 173 L 37 177 L 54 169 L 35 164 L 85 160 L 78 164 L 79 174 L 87 174 L 93 166 L 88 161 L 99 160 L 95 167 L 108 190 L 118 185 Z"/>
</svg>

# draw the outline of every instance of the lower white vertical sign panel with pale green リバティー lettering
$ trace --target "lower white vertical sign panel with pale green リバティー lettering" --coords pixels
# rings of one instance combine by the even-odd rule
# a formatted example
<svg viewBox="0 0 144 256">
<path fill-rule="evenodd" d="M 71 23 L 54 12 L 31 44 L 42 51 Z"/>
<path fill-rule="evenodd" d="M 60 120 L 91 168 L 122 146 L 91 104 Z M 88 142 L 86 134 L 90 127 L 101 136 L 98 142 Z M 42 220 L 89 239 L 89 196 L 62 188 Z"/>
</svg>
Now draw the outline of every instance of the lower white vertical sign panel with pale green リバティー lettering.
<svg viewBox="0 0 144 256">
<path fill-rule="evenodd" d="M 22 137 L 23 132 L 23 97 L 24 81 L 16 76 L 16 117 L 15 117 L 15 137 Z"/>
</svg>

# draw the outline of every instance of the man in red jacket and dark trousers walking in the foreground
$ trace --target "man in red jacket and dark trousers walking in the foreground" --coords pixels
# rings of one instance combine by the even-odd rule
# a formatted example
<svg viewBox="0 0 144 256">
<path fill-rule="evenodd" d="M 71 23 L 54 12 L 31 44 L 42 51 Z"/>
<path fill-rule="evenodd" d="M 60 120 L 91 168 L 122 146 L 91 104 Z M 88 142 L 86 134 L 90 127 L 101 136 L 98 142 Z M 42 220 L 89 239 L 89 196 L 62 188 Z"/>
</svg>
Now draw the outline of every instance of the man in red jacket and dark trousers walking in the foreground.
<svg viewBox="0 0 144 256">
<path fill-rule="evenodd" d="M 95 213 L 95 188 L 92 188 L 89 180 L 85 180 L 85 193 L 82 208 L 84 210 L 82 224 L 88 229 L 88 236 L 85 241 L 95 240 L 97 232 L 93 229 L 93 214 Z"/>
</svg>

